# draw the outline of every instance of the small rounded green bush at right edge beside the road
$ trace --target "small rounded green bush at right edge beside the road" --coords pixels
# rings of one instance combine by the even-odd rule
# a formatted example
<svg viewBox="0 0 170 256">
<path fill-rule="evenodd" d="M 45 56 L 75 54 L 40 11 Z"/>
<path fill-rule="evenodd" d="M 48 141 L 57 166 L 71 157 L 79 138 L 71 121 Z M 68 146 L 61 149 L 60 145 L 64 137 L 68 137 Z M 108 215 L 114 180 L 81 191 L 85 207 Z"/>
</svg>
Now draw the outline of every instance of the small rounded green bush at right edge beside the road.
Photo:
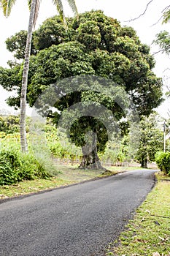
<svg viewBox="0 0 170 256">
<path fill-rule="evenodd" d="M 170 176 L 170 152 L 158 152 L 155 155 L 155 161 L 158 168 Z"/>
</svg>

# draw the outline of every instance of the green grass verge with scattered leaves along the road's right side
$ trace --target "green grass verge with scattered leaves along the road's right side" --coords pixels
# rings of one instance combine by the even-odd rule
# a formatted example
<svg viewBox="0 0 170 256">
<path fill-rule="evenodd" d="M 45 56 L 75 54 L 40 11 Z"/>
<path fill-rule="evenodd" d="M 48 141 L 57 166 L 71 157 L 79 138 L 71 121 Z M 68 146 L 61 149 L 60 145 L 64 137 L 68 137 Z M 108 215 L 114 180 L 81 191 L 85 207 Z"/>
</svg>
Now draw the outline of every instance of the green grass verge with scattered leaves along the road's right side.
<svg viewBox="0 0 170 256">
<path fill-rule="evenodd" d="M 155 188 L 136 210 L 119 240 L 109 244 L 106 255 L 170 255 L 170 181 L 163 173 L 157 177 Z"/>
</svg>

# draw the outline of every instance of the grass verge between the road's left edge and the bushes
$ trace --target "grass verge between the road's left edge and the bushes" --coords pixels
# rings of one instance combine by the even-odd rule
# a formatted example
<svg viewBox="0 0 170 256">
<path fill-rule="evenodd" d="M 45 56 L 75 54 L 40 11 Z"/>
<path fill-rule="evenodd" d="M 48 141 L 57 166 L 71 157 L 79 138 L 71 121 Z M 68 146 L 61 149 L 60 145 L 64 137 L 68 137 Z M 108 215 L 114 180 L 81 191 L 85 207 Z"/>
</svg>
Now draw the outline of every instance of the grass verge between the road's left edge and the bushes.
<svg viewBox="0 0 170 256">
<path fill-rule="evenodd" d="M 18 184 L 0 186 L 0 200 L 7 197 L 26 195 L 39 192 L 45 189 L 67 186 L 81 181 L 87 181 L 97 177 L 104 177 L 115 174 L 116 172 L 102 175 L 103 170 L 79 170 L 77 166 L 58 165 L 56 176 L 50 179 L 35 179 L 32 181 L 21 181 Z"/>
</svg>

